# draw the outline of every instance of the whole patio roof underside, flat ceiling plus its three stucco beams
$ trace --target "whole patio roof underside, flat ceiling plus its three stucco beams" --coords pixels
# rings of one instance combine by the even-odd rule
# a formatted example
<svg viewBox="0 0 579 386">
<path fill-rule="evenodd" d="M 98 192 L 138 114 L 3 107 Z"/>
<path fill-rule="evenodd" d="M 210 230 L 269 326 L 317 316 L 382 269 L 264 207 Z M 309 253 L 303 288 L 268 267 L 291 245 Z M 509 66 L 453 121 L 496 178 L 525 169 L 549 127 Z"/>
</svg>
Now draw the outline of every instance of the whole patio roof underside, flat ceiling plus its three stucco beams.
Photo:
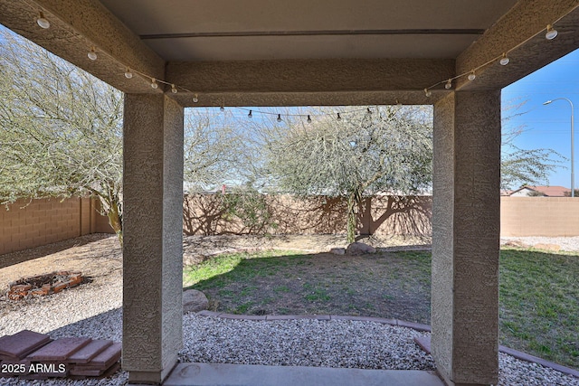
<svg viewBox="0 0 579 386">
<path fill-rule="evenodd" d="M 184 106 L 429 104 L 444 80 L 498 89 L 579 46 L 576 0 L 0 0 L 0 23 L 125 92 L 175 83 Z"/>
</svg>

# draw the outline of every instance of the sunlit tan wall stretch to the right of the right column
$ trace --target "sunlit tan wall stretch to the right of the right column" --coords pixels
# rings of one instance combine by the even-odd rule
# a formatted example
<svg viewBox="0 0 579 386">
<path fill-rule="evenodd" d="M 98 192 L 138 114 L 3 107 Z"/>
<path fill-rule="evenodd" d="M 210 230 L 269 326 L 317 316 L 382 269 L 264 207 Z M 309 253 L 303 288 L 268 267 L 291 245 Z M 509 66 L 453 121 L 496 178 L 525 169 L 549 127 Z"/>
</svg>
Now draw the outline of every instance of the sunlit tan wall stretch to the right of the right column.
<svg viewBox="0 0 579 386">
<path fill-rule="evenodd" d="M 501 236 L 579 236 L 579 199 L 501 197 Z"/>
</svg>

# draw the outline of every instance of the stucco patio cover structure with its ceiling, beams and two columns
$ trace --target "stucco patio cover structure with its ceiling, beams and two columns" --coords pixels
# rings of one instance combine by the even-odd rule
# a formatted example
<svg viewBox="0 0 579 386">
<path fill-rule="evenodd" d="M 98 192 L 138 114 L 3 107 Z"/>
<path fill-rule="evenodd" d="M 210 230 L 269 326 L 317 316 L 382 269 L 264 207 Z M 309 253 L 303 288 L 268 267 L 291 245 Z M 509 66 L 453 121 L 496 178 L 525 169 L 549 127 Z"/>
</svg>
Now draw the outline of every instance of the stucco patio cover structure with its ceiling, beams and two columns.
<svg viewBox="0 0 579 386">
<path fill-rule="evenodd" d="M 0 0 L 1 24 L 126 93 L 129 382 L 165 381 L 182 347 L 184 108 L 400 103 L 434 106 L 432 356 L 447 384 L 497 383 L 500 89 L 579 47 L 578 8 Z"/>
</svg>

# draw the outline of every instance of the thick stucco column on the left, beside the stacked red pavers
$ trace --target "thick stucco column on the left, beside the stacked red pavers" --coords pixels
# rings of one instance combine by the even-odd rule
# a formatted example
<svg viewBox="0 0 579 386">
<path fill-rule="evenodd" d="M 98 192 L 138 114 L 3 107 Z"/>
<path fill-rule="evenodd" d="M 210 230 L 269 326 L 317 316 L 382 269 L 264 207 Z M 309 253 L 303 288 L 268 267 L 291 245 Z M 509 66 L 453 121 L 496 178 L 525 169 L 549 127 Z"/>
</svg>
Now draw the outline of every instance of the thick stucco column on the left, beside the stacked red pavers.
<svg viewBox="0 0 579 386">
<path fill-rule="evenodd" d="M 125 96 L 122 367 L 160 383 L 183 345 L 183 108 Z"/>
</svg>

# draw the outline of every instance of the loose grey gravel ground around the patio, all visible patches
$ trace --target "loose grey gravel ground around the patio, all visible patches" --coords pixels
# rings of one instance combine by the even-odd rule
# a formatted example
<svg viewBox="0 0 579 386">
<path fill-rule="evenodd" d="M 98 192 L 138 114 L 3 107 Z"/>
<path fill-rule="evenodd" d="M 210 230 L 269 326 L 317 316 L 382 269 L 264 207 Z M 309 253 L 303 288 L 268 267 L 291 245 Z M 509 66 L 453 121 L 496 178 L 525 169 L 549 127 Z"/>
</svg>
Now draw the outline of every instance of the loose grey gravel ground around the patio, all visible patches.
<svg viewBox="0 0 579 386">
<path fill-rule="evenodd" d="M 543 240 L 514 238 L 533 245 L 558 244 L 565 250 L 579 250 L 579 238 Z M 530 239 L 530 240 L 529 240 Z M 506 242 L 505 240 L 502 240 Z M 122 272 L 111 269 L 80 287 L 57 296 L 24 302 L 0 298 L 0 335 L 15 334 L 27 328 L 61 336 L 121 340 Z M 2 271 L 3 269 L 0 269 Z M 318 321 L 243 321 L 184 315 L 183 362 L 253 363 L 358 367 L 367 369 L 432 369 L 432 357 L 415 344 L 416 331 L 372 322 Z M 379 338 L 379 339 L 377 339 Z M 579 386 L 579 379 L 499 354 L 499 385 Z M 28 385 L 123 385 L 127 373 L 119 372 L 106 380 L 26 381 L 0 378 L 6 386 Z"/>
</svg>

